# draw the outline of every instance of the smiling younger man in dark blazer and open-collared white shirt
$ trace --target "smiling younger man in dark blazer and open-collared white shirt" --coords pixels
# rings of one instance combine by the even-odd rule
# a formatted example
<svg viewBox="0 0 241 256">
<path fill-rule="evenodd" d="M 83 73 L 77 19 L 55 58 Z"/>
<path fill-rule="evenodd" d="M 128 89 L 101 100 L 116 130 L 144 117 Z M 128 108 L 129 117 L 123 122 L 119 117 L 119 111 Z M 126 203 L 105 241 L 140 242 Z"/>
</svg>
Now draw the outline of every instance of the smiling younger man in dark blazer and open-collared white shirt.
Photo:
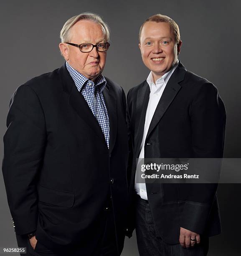
<svg viewBox="0 0 241 256">
<path fill-rule="evenodd" d="M 226 112 L 217 88 L 178 61 L 175 21 L 157 14 L 140 28 L 147 80 L 127 96 L 141 256 L 206 255 L 208 236 L 221 232 L 216 184 L 138 183 L 137 158 L 221 158 Z M 197 59 L 198 61 L 198 59 Z"/>
</svg>

